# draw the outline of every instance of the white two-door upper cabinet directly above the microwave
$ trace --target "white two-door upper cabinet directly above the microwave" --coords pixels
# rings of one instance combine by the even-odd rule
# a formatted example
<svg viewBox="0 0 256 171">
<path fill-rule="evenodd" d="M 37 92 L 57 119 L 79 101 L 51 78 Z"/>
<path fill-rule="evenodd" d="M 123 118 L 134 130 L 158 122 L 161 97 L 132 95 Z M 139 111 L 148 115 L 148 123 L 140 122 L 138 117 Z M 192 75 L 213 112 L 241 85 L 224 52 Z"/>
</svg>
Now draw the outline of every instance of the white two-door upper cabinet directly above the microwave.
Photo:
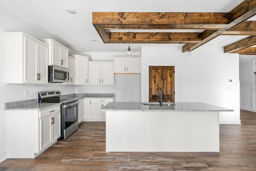
<svg viewBox="0 0 256 171">
<path fill-rule="evenodd" d="M 38 39 L 49 46 L 49 65 L 68 68 L 69 49 L 52 39 Z"/>
</svg>

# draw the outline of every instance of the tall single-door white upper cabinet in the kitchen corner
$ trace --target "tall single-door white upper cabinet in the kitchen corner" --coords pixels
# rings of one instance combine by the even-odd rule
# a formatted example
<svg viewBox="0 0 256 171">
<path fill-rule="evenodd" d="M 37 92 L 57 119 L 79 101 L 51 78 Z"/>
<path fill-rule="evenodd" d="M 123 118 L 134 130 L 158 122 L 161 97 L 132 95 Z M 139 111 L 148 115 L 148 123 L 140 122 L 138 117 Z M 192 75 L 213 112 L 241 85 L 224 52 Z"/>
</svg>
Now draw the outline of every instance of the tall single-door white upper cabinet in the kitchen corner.
<svg viewBox="0 0 256 171">
<path fill-rule="evenodd" d="M 82 55 L 70 55 L 75 58 L 75 84 L 76 85 L 88 85 L 88 61 L 92 58 Z"/>
</svg>

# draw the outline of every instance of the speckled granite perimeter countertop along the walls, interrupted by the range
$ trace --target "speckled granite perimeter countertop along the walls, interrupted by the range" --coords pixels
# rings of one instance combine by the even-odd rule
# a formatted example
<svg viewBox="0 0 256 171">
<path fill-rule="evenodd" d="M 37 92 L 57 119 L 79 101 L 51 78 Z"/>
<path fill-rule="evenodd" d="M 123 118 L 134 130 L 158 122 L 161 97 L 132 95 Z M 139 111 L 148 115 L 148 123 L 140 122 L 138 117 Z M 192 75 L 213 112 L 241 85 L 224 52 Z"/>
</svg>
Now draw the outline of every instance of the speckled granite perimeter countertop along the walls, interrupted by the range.
<svg viewBox="0 0 256 171">
<path fill-rule="evenodd" d="M 76 93 L 61 95 L 60 99 L 114 98 L 114 93 Z M 38 99 L 13 101 L 4 103 L 4 110 L 44 110 L 62 103 L 38 103 Z"/>
</svg>

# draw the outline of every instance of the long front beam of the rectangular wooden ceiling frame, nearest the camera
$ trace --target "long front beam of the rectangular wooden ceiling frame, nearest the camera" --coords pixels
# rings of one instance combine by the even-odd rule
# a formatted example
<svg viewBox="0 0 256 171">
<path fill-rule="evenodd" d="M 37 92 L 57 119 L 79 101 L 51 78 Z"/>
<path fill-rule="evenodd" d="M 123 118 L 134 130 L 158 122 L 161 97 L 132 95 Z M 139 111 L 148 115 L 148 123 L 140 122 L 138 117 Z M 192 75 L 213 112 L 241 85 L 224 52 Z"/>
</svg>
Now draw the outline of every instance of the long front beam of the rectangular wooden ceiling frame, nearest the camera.
<svg viewBox="0 0 256 171">
<path fill-rule="evenodd" d="M 92 24 L 228 24 L 227 12 L 92 12 Z M 105 28 L 105 27 L 104 27 Z M 141 28 L 143 29 L 143 28 Z"/>
</svg>

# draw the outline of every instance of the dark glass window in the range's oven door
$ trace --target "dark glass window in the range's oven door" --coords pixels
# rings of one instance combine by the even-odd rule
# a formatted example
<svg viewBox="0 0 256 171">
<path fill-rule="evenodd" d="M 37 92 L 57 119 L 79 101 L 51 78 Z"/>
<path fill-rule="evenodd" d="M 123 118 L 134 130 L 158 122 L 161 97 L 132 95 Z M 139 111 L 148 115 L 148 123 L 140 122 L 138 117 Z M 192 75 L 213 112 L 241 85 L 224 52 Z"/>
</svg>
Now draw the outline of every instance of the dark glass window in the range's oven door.
<svg viewBox="0 0 256 171">
<path fill-rule="evenodd" d="M 78 121 L 78 104 L 64 107 L 64 129 Z"/>
</svg>

